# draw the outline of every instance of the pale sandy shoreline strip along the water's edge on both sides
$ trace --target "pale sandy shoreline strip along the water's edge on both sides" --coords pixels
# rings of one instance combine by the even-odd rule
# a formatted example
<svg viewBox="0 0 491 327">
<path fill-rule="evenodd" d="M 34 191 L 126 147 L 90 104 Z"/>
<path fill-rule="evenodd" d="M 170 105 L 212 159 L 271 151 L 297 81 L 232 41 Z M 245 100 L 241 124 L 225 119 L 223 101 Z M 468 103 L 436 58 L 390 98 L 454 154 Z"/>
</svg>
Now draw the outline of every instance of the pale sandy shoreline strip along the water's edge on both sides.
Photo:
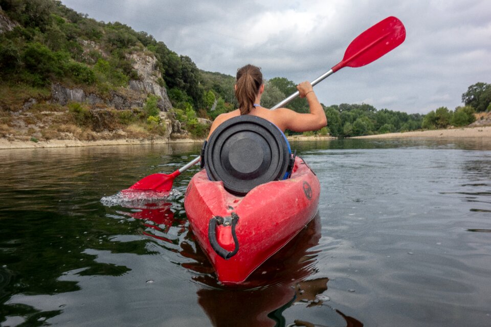
<svg viewBox="0 0 491 327">
<path fill-rule="evenodd" d="M 386 133 L 376 135 L 355 136 L 356 139 L 397 139 L 397 138 L 488 138 L 491 141 L 491 126 L 466 127 L 452 129 L 437 129 L 427 131 L 412 131 L 403 133 Z M 337 139 L 332 136 L 287 136 L 289 142 L 304 141 L 329 141 Z M 192 138 L 156 138 L 156 139 L 135 139 L 121 138 L 113 140 L 101 139 L 98 141 L 79 141 L 73 139 L 53 139 L 50 141 L 9 141 L 0 138 L 0 150 L 9 149 L 35 149 L 35 148 L 72 148 L 72 147 L 93 147 L 93 146 L 122 146 L 122 145 L 151 145 L 151 144 L 179 144 L 179 143 L 203 143 L 204 139 Z"/>
</svg>

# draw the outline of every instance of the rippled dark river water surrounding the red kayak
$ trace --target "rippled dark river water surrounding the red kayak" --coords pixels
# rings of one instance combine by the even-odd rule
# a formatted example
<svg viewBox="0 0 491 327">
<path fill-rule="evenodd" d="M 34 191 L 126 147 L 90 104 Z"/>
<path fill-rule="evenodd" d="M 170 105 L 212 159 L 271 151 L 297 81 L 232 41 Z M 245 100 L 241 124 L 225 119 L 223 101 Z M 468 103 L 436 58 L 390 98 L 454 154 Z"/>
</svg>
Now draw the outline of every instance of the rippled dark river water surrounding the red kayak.
<svg viewBox="0 0 491 327">
<path fill-rule="evenodd" d="M 199 144 L 0 151 L 0 325 L 491 325 L 491 140 L 292 148 L 319 215 L 235 288 L 189 230 L 198 167 L 154 207 L 101 201 Z"/>
</svg>

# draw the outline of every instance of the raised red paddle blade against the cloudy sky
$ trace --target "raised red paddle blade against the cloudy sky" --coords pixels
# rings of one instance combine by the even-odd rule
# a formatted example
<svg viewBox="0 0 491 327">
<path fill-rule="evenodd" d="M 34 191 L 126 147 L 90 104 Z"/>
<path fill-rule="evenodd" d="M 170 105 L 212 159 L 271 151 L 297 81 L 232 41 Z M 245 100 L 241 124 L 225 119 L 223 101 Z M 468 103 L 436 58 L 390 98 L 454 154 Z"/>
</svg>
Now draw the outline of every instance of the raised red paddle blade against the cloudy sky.
<svg viewBox="0 0 491 327">
<path fill-rule="evenodd" d="M 332 71 L 348 67 L 361 67 L 377 60 L 406 39 L 406 28 L 396 17 L 387 17 L 358 37 L 346 49 L 343 60 Z"/>
</svg>

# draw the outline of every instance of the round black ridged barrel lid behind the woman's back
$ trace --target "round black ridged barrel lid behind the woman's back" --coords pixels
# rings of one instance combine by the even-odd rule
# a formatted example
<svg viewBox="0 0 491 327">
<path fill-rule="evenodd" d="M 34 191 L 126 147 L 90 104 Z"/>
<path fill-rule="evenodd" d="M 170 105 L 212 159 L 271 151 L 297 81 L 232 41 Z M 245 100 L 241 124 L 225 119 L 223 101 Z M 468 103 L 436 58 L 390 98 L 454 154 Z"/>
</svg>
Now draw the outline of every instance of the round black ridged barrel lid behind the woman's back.
<svg viewBox="0 0 491 327">
<path fill-rule="evenodd" d="M 289 158 L 284 134 L 273 123 L 240 115 L 220 124 L 205 149 L 211 180 L 221 180 L 230 193 L 245 195 L 257 185 L 282 179 Z"/>
</svg>

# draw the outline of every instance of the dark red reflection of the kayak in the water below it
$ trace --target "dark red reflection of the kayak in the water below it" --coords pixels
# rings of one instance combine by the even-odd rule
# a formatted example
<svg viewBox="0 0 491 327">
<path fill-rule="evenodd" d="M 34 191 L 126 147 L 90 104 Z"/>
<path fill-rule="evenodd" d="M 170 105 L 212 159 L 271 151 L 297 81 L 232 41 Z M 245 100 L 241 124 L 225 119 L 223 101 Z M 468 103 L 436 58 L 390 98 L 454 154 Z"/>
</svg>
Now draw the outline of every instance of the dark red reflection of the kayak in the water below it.
<svg viewBox="0 0 491 327">
<path fill-rule="evenodd" d="M 224 288 L 216 283 L 215 278 L 207 278 L 209 274 L 197 275 L 194 279 L 207 285 L 197 291 L 198 303 L 212 325 L 310 327 L 332 325 L 331 322 L 338 325 L 345 321 L 346 326 L 363 326 L 359 320 L 328 304 L 329 278 L 305 280 L 317 271 L 319 250 L 313 247 L 319 242 L 320 231 L 320 216 L 317 215 L 240 286 Z M 293 307 L 295 309 L 292 310 Z"/>
</svg>

